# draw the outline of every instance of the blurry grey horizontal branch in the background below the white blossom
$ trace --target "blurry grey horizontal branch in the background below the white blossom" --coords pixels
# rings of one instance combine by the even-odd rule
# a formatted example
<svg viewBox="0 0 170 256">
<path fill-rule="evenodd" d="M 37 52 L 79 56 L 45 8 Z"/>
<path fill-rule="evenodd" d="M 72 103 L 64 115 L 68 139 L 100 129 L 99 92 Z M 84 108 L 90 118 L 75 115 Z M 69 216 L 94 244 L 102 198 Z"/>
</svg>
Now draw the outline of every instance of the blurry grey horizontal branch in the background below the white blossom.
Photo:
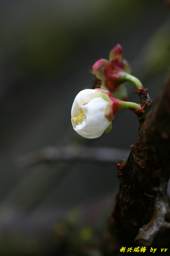
<svg viewBox="0 0 170 256">
<path fill-rule="evenodd" d="M 49 146 L 23 156 L 18 156 L 16 163 L 19 167 L 57 161 L 116 163 L 122 158 L 127 158 L 129 153 L 130 150 L 118 148 L 94 148 L 82 145 L 67 147 Z"/>
</svg>

